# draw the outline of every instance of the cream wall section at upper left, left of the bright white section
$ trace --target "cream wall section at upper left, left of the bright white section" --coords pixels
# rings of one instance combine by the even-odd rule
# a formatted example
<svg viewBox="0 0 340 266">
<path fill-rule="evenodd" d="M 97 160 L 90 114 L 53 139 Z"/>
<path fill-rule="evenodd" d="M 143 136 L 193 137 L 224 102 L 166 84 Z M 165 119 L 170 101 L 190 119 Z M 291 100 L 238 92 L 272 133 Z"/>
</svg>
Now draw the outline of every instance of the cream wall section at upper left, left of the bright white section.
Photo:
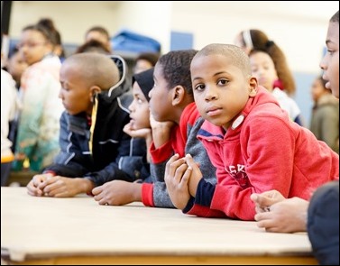
<svg viewBox="0 0 340 266">
<path fill-rule="evenodd" d="M 102 25 L 112 33 L 116 30 L 115 5 L 104 1 L 14 1 L 9 33 L 18 38 L 23 27 L 50 17 L 60 31 L 62 41 L 80 44 L 85 32 Z"/>
</svg>

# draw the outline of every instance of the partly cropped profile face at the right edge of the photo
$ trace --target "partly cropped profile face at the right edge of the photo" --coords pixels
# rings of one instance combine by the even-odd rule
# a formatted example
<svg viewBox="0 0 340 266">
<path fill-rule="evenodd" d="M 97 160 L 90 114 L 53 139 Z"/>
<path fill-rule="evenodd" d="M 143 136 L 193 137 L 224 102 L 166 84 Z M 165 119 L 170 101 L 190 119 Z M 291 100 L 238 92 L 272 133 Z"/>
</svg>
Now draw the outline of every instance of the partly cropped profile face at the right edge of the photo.
<svg viewBox="0 0 340 266">
<path fill-rule="evenodd" d="M 327 80 L 326 87 L 339 97 L 339 23 L 329 23 L 326 36 L 327 52 L 320 62 L 324 69 L 323 78 Z"/>
</svg>

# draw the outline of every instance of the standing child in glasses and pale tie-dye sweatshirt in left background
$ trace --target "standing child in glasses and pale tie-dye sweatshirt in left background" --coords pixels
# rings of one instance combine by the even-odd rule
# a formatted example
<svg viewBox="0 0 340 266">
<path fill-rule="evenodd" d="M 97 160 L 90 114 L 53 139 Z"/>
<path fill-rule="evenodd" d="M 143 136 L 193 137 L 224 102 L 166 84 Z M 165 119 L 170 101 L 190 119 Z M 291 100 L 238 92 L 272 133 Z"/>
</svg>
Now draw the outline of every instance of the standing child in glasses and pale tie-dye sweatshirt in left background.
<svg viewBox="0 0 340 266">
<path fill-rule="evenodd" d="M 29 67 L 23 72 L 20 97 L 23 108 L 18 121 L 14 170 L 41 171 L 50 165 L 60 151 L 60 115 L 64 107 L 60 91 L 60 59 L 53 53 L 54 37 L 44 23 L 23 29 L 19 52 Z"/>
</svg>

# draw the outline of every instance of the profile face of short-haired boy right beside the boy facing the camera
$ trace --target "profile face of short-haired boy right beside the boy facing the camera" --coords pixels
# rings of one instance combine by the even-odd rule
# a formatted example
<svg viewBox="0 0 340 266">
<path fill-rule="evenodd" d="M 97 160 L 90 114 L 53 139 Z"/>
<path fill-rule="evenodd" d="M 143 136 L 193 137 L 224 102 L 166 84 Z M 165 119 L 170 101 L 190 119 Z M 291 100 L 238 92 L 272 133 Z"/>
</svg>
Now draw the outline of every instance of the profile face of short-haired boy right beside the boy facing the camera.
<svg viewBox="0 0 340 266">
<path fill-rule="evenodd" d="M 149 93 L 150 111 L 152 117 L 158 122 L 171 121 L 173 115 L 172 89 L 168 88 L 168 82 L 163 77 L 163 68 L 157 63 L 153 72 L 154 86 Z"/>
</svg>

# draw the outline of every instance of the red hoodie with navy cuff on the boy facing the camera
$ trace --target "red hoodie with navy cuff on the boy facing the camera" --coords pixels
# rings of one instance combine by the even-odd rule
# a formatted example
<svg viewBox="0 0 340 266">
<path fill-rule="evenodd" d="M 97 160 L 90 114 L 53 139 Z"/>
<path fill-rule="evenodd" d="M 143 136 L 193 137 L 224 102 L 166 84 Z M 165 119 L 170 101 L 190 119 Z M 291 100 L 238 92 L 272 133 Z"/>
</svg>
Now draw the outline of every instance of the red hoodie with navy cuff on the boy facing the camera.
<svg viewBox="0 0 340 266">
<path fill-rule="evenodd" d="M 198 139 L 217 169 L 217 185 L 201 179 L 183 212 L 253 220 L 252 193 L 277 189 L 284 197 L 308 200 L 316 188 L 339 179 L 338 154 L 291 122 L 264 88 L 249 98 L 241 115 L 242 123 L 226 133 L 207 121 L 202 125 Z"/>
</svg>

